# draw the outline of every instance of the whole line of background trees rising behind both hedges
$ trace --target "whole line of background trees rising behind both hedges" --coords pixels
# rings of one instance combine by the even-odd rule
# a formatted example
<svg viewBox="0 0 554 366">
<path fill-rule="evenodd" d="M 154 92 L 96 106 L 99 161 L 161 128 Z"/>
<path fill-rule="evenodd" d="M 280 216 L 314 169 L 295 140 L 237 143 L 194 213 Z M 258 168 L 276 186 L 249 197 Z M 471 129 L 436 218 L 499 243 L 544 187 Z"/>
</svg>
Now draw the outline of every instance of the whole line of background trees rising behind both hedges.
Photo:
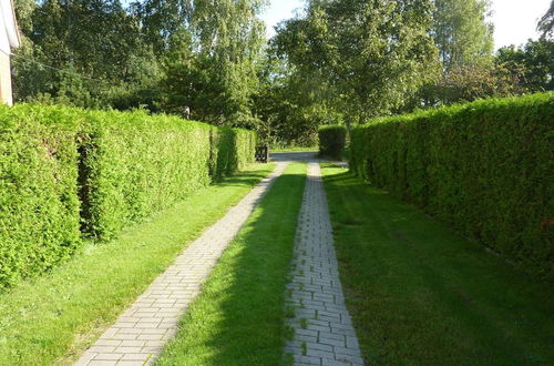
<svg viewBox="0 0 554 366">
<path fill-rule="evenodd" d="M 265 0 L 16 0 L 18 101 L 167 112 L 314 143 L 327 123 L 553 90 L 542 38 L 494 53 L 489 0 L 307 0 L 266 40 Z"/>
</svg>

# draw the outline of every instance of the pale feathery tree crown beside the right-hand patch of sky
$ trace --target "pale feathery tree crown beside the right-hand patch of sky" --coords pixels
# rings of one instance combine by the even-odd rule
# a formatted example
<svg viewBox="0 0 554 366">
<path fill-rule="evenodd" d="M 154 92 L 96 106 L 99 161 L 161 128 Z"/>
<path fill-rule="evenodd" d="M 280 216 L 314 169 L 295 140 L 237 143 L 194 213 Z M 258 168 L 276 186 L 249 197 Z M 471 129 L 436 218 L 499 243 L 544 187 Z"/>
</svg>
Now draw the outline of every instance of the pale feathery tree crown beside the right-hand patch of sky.
<svg viewBox="0 0 554 366">
<path fill-rule="evenodd" d="M 434 4 L 433 35 L 444 71 L 492 60 L 489 0 L 435 0 Z"/>
</svg>

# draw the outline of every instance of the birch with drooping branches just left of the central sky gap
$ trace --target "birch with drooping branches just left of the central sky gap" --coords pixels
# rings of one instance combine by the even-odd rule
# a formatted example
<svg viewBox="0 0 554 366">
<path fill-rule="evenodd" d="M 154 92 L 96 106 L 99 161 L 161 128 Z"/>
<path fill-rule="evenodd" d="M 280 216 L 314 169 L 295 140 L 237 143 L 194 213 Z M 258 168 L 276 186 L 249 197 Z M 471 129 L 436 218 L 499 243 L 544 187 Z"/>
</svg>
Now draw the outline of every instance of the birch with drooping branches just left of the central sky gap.
<svg viewBox="0 0 554 366">
<path fill-rule="evenodd" d="M 163 81 L 164 105 L 214 124 L 250 126 L 252 98 L 265 26 L 263 0 L 195 0 L 171 40 Z"/>
</svg>

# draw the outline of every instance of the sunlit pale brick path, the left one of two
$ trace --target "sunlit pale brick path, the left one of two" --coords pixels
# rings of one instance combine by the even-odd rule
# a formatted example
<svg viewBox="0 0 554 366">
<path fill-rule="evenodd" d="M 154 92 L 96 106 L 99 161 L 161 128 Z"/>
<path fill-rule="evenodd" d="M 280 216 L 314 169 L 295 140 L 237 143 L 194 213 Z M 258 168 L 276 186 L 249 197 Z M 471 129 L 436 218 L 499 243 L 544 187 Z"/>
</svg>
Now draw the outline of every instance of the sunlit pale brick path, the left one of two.
<svg viewBox="0 0 554 366">
<path fill-rule="evenodd" d="M 229 242 L 287 163 L 249 192 L 235 207 L 193 242 L 78 360 L 76 365 L 151 364 L 177 332 L 191 301 Z"/>
</svg>

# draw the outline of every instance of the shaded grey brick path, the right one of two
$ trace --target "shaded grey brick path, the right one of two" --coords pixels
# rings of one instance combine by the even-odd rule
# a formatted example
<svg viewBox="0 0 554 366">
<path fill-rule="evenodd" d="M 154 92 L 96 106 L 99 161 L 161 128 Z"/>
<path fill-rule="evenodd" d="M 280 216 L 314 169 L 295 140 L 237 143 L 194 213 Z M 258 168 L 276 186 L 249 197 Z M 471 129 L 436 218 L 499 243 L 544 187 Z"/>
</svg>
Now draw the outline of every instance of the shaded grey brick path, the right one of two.
<svg viewBox="0 0 554 366">
<path fill-rule="evenodd" d="M 319 164 L 308 165 L 298 221 L 288 325 L 295 337 L 285 352 L 295 365 L 363 365 L 340 285 L 331 223 Z"/>
</svg>

